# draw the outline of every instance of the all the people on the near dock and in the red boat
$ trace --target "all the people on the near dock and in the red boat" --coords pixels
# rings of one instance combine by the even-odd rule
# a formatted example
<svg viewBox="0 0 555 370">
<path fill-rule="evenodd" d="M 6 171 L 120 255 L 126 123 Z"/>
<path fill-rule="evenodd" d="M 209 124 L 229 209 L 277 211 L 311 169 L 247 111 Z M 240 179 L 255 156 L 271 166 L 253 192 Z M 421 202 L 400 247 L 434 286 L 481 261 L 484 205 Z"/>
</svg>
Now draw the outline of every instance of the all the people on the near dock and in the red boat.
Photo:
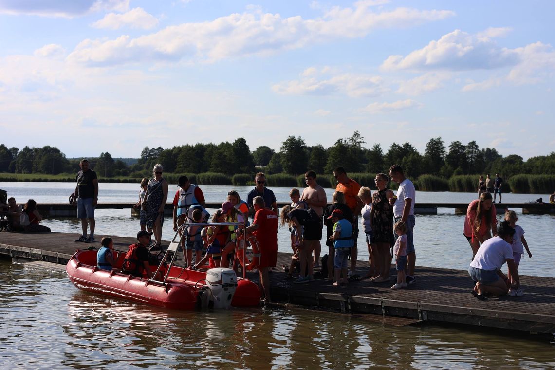
<svg viewBox="0 0 555 370">
<path fill-rule="evenodd" d="M 319 268 L 321 277 L 327 278 L 334 286 L 361 280 L 362 277 L 356 271 L 359 230 L 364 232 L 369 255 L 369 272 L 365 278 L 375 283 L 393 281 L 393 290 L 416 283 L 413 236 L 416 191 L 401 166 L 393 165 L 388 174 L 377 174 L 377 190 L 374 193 L 369 187 L 361 187 L 349 178 L 342 167 L 337 167 L 333 174 L 337 185 L 329 206 L 324 188 L 317 183 L 316 173 L 307 171 L 307 186 L 302 191 L 291 189 L 291 204 L 278 212 L 274 192 L 266 187 L 265 174 L 258 173 L 254 178 L 255 187 L 246 195 L 246 201 L 241 199 L 237 191 L 231 190 L 221 208 L 212 215 L 211 222 L 215 224 L 234 222 L 244 225 L 248 236 L 258 242 L 261 257 L 255 262 L 267 300 L 270 299 L 268 273 L 276 265 L 279 217 L 281 226 L 289 227 L 292 257 L 291 265 L 286 268 L 286 278 L 294 283 L 314 281 L 315 271 Z M 387 188 L 390 180 L 398 185 L 396 193 Z M 82 226 L 82 235 L 75 242 L 94 242 L 98 178 L 86 159 L 80 162 L 75 181 L 77 185 L 70 202 L 77 207 L 77 217 Z M 502 184 L 503 179 L 499 174 L 496 174 L 495 179 L 491 179 L 489 174 L 486 179 L 480 176 L 478 199 L 470 202 L 465 216 L 463 234 L 472 250 L 469 273 L 476 281 L 472 294 L 480 299 L 492 293 L 522 295 L 518 265 L 524 249 L 532 257 L 524 230 L 516 225 L 518 218 L 514 211 L 507 210 L 504 221 L 497 225 L 495 203 L 498 195 L 498 204 L 501 204 Z M 162 250 L 164 206 L 169 191 L 168 181 L 163 176 L 163 166 L 156 164 L 152 178 L 143 179 L 140 186 L 134 207 L 140 212 L 141 231 L 137 234 L 138 243 L 130 246 L 128 251 L 129 260 L 137 263 L 123 268 L 138 275 L 144 270 L 149 272 L 143 265 L 148 262 L 148 251 Z M 203 191 L 198 185 L 191 184 L 187 176 L 179 177 L 172 204 L 174 231 L 183 230 L 181 226 L 184 224 L 201 224 L 209 220 Z M 15 230 L 49 231 L 48 227 L 39 224 L 42 217 L 34 200 L 30 199 L 24 207 L 20 207 L 11 197 L 8 204 L 2 207 L 0 211 L 13 220 Z M 327 256 L 322 259 L 321 266 L 324 227 Z M 248 243 L 241 240 L 242 233 L 238 233 L 238 229 L 236 225 L 186 227 L 181 235 L 186 265 L 199 268 L 209 263 L 210 267 L 230 267 L 236 247 L 243 248 Z M 98 266 L 110 269 L 114 264 L 111 252 L 113 241 L 105 237 L 101 245 Z M 397 271 L 393 280 L 390 277 L 392 260 L 395 261 Z M 507 276 L 501 272 L 503 263 L 509 267 Z"/>
</svg>

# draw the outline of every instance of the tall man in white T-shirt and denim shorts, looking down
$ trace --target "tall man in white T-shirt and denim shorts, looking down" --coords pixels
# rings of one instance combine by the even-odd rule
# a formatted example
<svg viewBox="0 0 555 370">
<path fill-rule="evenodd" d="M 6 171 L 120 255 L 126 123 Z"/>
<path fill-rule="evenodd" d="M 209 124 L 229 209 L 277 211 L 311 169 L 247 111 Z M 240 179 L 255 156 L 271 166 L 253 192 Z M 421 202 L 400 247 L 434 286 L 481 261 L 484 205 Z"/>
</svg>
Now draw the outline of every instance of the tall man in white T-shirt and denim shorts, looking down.
<svg viewBox="0 0 555 370">
<path fill-rule="evenodd" d="M 416 283 L 415 278 L 415 244 L 412 230 L 415 227 L 415 185 L 408 180 L 403 173 L 400 165 L 394 164 L 389 169 L 389 175 L 392 181 L 399 184 L 397 195 L 389 199 L 389 204 L 393 206 L 393 216 L 395 222 L 403 221 L 407 225 L 407 284 Z M 396 237 L 396 235 L 395 235 Z"/>
</svg>

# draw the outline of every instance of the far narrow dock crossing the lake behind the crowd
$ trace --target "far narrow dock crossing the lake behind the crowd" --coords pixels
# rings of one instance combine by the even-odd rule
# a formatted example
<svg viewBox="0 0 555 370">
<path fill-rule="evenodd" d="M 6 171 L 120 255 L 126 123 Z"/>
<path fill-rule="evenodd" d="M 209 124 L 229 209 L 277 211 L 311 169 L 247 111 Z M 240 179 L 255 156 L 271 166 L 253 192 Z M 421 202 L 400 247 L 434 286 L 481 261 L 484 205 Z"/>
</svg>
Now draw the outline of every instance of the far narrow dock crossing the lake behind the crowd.
<svg viewBox="0 0 555 370">
<path fill-rule="evenodd" d="M 278 202 L 278 207 L 284 207 L 290 203 Z M 96 209 L 129 209 L 132 215 L 138 216 L 138 212 L 133 209 L 134 202 L 118 202 L 118 203 L 98 203 Z M 218 209 L 221 203 L 208 202 L 206 207 Z M 455 210 L 455 214 L 466 214 L 468 203 L 416 203 L 415 214 L 417 215 L 437 215 L 438 208 L 447 208 Z M 498 214 L 504 213 L 504 209 L 522 209 L 523 214 L 555 214 L 555 206 L 544 204 L 527 204 L 527 203 L 502 203 L 496 204 Z M 77 209 L 69 203 L 50 203 L 37 204 L 37 209 L 41 215 L 46 217 L 77 217 Z M 168 203 L 164 207 L 164 215 L 171 216 L 173 214 L 173 205 Z"/>
</svg>

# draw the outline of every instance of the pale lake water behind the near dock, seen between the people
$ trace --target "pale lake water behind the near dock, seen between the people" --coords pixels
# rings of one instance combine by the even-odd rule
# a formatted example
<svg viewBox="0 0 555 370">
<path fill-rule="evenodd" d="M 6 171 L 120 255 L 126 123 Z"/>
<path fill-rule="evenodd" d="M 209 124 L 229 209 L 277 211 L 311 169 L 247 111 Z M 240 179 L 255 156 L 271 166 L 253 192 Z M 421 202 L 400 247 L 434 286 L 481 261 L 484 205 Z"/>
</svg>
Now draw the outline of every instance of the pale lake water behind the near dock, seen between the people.
<svg viewBox="0 0 555 370">
<path fill-rule="evenodd" d="M 24 203 L 32 198 L 38 203 L 67 202 L 68 196 L 75 189 L 73 183 L 0 183 L 0 189 L 8 191 L 8 196 L 13 196 L 19 203 Z M 99 184 L 99 202 L 133 202 L 138 199 L 138 184 Z M 176 185 L 170 185 L 168 199 L 173 199 Z M 201 189 L 207 202 L 223 202 L 226 199 L 230 186 L 202 185 Z M 250 186 L 233 187 L 241 197 L 252 189 Z M 286 187 L 271 187 L 278 202 L 290 201 L 289 190 Z M 326 189 L 328 200 L 331 201 L 333 190 Z M 543 197 L 546 194 L 504 194 L 504 202 L 526 202 Z M 453 192 L 416 192 L 416 204 L 418 202 L 470 202 L 476 199 L 476 193 L 453 193 Z M 210 210 L 213 212 L 214 210 Z M 521 261 L 519 272 L 525 275 L 555 277 L 555 269 L 552 267 L 552 240 L 555 231 L 555 215 L 521 215 L 522 210 L 516 209 L 519 216 L 518 225 L 526 232 L 524 236 L 532 252 L 532 259 L 526 255 Z M 95 234 L 135 236 L 139 230 L 139 221 L 131 216 L 127 210 L 97 210 L 95 211 L 97 221 Z M 502 215 L 497 216 L 502 221 Z M 466 238 L 462 235 L 463 215 L 455 215 L 453 209 L 439 209 L 437 215 L 417 215 L 414 230 L 416 246 L 417 266 L 445 267 L 467 270 L 472 252 Z M 80 233 L 80 222 L 77 219 L 56 218 L 46 219 L 43 224 L 50 227 L 52 231 Z M 170 240 L 174 232 L 172 230 L 171 217 L 165 218 L 163 226 L 163 239 Z M 1 234 L 0 234 L 1 238 Z M 99 238 L 97 237 L 97 240 Z M 289 252 L 290 239 L 287 228 L 280 228 L 278 232 L 279 251 Z M 360 235 L 359 260 L 368 259 L 368 251 L 364 234 Z M 324 245 L 322 255 L 326 252 Z"/>
</svg>

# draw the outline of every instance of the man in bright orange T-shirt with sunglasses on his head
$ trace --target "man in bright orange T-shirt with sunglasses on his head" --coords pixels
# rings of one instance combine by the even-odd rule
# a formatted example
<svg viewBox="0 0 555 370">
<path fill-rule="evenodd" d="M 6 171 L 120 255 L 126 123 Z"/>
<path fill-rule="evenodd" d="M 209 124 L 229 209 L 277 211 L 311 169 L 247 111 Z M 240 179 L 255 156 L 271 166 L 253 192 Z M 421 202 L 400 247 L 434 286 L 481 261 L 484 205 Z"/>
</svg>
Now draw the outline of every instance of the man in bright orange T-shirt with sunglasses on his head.
<svg viewBox="0 0 555 370">
<path fill-rule="evenodd" d="M 334 177 L 337 180 L 337 186 L 335 191 L 341 191 L 345 194 L 345 201 L 347 206 L 352 211 L 352 239 L 354 241 L 354 246 L 351 248 L 351 271 L 349 271 L 349 277 L 351 280 L 357 280 L 359 276 L 356 274 L 356 259 L 359 255 L 357 249 L 357 239 L 359 239 L 359 215 L 360 210 L 364 204 L 359 198 L 360 185 L 353 179 L 347 177 L 347 173 L 344 168 L 337 167 L 334 170 Z"/>
</svg>

